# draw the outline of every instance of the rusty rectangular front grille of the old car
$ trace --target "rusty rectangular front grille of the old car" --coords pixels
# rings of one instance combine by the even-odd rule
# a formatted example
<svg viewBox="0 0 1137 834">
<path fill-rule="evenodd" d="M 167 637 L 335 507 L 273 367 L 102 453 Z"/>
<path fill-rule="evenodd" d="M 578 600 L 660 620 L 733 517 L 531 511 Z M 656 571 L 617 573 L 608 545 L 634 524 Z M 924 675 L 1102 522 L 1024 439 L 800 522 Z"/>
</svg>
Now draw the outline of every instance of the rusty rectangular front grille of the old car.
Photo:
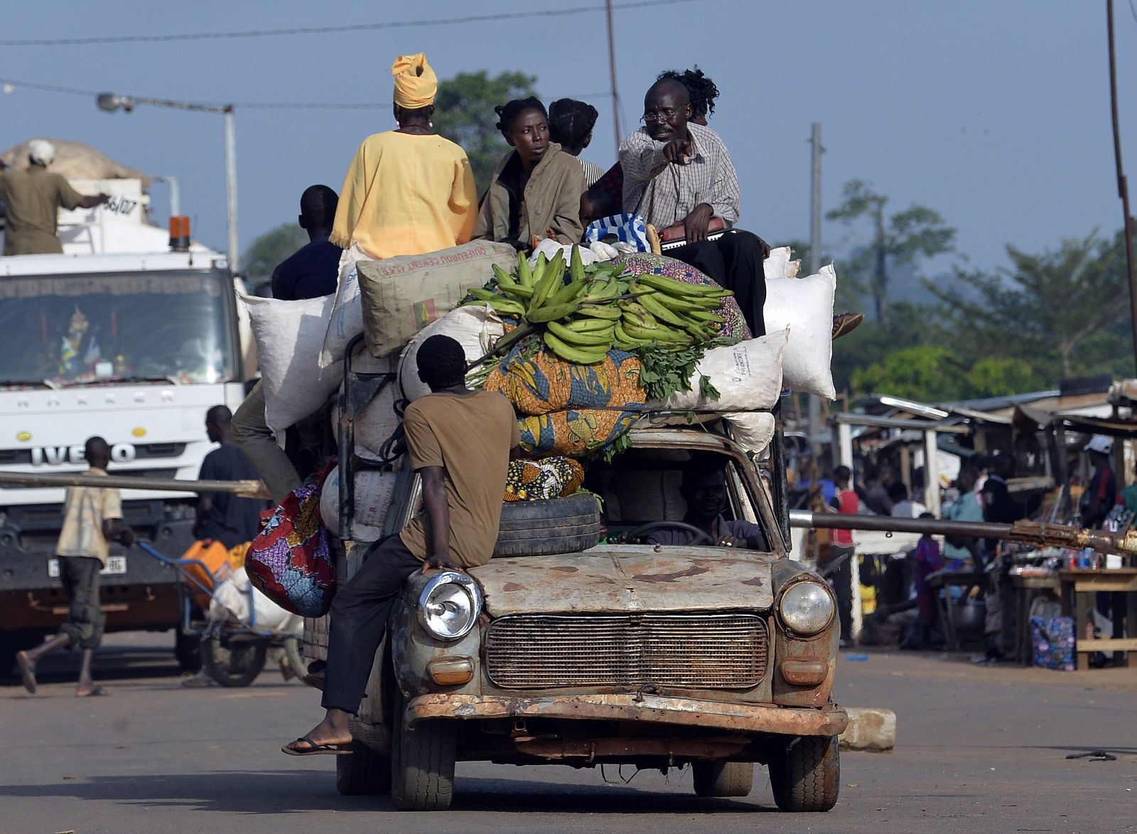
<svg viewBox="0 0 1137 834">
<path fill-rule="evenodd" d="M 503 689 L 749 689 L 767 653 L 753 614 L 516 615 L 490 623 L 485 669 Z"/>
</svg>

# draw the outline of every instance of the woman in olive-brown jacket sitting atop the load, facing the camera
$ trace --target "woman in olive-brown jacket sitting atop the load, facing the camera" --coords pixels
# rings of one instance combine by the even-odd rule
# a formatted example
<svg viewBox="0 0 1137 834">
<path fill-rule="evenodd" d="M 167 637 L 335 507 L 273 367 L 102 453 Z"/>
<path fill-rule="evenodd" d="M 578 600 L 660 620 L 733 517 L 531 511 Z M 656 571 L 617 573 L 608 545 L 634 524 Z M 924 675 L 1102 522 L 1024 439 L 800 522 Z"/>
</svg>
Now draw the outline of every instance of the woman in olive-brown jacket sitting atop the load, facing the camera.
<svg viewBox="0 0 1137 834">
<path fill-rule="evenodd" d="M 584 172 L 576 157 L 549 141 L 545 105 L 529 98 L 493 108 L 497 128 L 514 150 L 501 157 L 482 198 L 474 237 L 489 237 L 531 249 L 533 240 L 551 237 L 580 243 L 580 195 Z"/>
</svg>

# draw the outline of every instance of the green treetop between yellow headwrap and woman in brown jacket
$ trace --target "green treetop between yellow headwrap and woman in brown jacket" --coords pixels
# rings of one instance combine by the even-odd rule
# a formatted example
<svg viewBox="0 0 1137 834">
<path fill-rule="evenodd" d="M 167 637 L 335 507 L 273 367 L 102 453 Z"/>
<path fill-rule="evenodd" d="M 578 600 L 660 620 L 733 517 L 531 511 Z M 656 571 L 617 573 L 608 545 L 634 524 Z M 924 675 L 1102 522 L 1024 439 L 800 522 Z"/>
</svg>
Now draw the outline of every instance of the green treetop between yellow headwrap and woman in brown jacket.
<svg viewBox="0 0 1137 834">
<path fill-rule="evenodd" d="M 493 126 L 498 120 L 493 108 L 511 99 L 536 95 L 536 83 L 534 75 L 506 72 L 491 78 L 484 69 L 458 73 L 439 82 L 434 97 L 434 130 L 466 151 L 479 193 L 489 186 L 493 166 L 509 150 Z"/>
</svg>

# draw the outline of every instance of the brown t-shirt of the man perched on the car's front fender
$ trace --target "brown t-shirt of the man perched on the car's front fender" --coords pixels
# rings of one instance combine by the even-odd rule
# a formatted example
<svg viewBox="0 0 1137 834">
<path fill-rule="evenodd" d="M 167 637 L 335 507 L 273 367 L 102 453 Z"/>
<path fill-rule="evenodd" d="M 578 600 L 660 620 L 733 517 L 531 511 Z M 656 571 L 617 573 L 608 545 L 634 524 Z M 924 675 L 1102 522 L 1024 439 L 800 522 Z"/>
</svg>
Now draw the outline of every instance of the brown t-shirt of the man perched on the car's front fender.
<svg viewBox="0 0 1137 834">
<path fill-rule="evenodd" d="M 410 466 L 445 469 L 450 559 L 467 568 L 484 565 L 497 543 L 509 450 L 521 442 L 513 405 L 492 391 L 434 393 L 410 403 L 402 426 Z M 415 557 L 426 558 L 425 510 L 401 539 Z"/>
</svg>

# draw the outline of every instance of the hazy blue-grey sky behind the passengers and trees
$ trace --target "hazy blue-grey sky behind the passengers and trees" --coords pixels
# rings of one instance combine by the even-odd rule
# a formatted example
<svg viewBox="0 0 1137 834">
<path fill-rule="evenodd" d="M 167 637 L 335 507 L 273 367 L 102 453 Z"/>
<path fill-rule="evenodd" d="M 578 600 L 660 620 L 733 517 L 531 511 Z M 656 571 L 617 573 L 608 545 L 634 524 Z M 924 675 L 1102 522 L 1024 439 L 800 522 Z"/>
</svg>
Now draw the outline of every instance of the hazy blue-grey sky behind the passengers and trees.
<svg viewBox="0 0 1137 834">
<path fill-rule="evenodd" d="M 590 100 L 601 115 L 584 156 L 607 167 L 615 148 L 612 102 L 603 94 L 609 87 L 603 3 L 61 0 L 50 14 L 28 5 L 7 9 L 0 40 L 443 22 L 592 5 L 596 11 L 559 17 L 337 34 L 0 45 L 0 78 L 193 101 L 382 105 L 238 109 L 243 250 L 294 218 L 307 185 L 339 190 L 359 141 L 393 126 L 389 68 L 400 52 L 425 51 L 443 78 L 521 69 L 539 77 L 546 101 Z M 722 91 L 711 126 L 738 168 L 741 225 L 773 243 L 808 234 L 812 122 L 822 123 L 828 151 L 827 209 L 845 181 L 872 181 L 891 208 L 938 209 L 978 266 L 1004 264 L 1007 242 L 1037 251 L 1121 225 L 1104 0 L 696 0 L 617 9 L 615 22 L 624 131 L 638 125 L 658 72 L 702 67 Z M 1129 0 L 1118 0 L 1117 30 L 1122 150 L 1137 192 L 1137 19 Z M 179 176 L 194 236 L 224 249 L 219 116 L 152 107 L 107 115 L 90 97 L 16 84 L 15 93 L 0 95 L 0 148 L 40 135 L 90 142 L 148 173 Z M 163 186 L 153 194 L 164 222 Z M 839 226 L 825 224 L 824 235 L 827 249 L 841 251 Z"/>
</svg>

